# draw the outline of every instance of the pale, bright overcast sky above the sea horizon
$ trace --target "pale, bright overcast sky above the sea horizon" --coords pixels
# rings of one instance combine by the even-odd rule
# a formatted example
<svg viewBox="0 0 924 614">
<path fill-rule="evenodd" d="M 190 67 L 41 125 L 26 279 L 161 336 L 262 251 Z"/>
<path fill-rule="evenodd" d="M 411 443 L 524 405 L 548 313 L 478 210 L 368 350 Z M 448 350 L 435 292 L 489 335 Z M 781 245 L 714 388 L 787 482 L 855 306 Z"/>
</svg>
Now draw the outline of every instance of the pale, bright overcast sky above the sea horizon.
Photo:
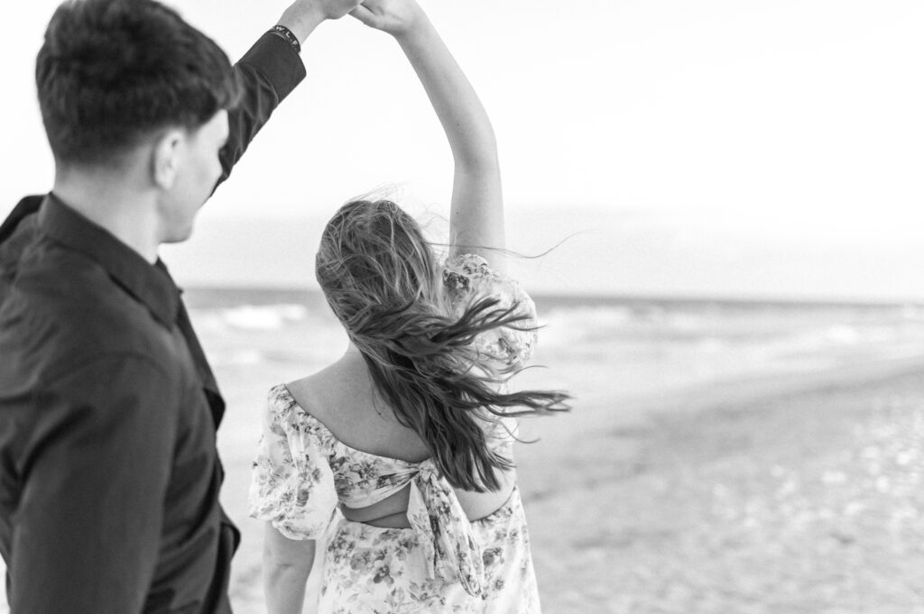
<svg viewBox="0 0 924 614">
<path fill-rule="evenodd" d="M 170 4 L 234 59 L 286 6 Z M 422 4 L 491 114 L 511 220 L 519 221 L 513 247 L 535 250 L 589 231 L 546 267 L 559 282 L 541 284 L 924 297 L 919 0 Z M 16 26 L 2 37 L 10 121 L 0 212 L 51 184 L 32 69 L 55 5 L 18 3 L 7 20 Z M 316 240 L 304 229 L 372 187 L 397 184 L 412 209 L 445 212 L 449 152 L 394 42 L 344 19 L 322 25 L 303 57 L 307 81 L 216 194 L 197 236 L 168 251 L 180 277 L 303 283 L 298 271 Z M 264 229 L 250 242 L 266 246 L 250 256 L 253 271 L 229 264 L 234 250 L 217 230 L 248 217 Z M 280 238 L 265 230 L 274 222 L 294 234 L 284 242 L 302 250 L 292 257 L 298 265 L 274 250 Z M 789 259 L 794 271 L 817 273 L 789 285 L 785 268 L 757 281 L 748 271 L 723 277 L 721 266 L 707 270 L 720 261 L 707 254 L 716 247 L 739 263 Z M 869 270 L 857 273 L 857 261 Z M 580 262 L 590 272 L 571 275 Z"/>
</svg>

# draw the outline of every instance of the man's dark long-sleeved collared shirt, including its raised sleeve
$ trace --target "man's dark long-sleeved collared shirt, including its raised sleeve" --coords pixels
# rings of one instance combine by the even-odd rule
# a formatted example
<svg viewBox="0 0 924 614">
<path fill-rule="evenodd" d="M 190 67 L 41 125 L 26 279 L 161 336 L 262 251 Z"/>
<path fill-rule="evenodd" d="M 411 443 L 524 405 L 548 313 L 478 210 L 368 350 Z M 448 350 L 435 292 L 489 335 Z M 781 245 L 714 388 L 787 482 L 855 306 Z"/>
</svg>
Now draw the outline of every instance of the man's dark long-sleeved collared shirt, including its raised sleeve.
<svg viewBox="0 0 924 614">
<path fill-rule="evenodd" d="M 224 181 L 305 77 L 264 35 L 235 66 Z M 0 554 L 13 614 L 227 614 L 225 402 L 158 261 L 54 194 L 0 226 Z"/>
</svg>

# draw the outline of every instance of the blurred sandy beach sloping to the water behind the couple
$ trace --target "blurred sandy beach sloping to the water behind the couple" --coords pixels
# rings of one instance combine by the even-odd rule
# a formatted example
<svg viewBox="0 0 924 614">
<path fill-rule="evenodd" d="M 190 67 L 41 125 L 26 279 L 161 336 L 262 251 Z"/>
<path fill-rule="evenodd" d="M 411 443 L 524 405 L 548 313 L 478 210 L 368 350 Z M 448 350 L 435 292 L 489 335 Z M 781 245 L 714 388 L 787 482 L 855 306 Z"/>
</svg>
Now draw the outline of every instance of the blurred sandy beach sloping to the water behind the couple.
<svg viewBox="0 0 924 614">
<path fill-rule="evenodd" d="M 544 611 L 924 612 L 924 359 L 596 403 L 518 450 Z M 249 449 L 225 463 L 258 614 Z"/>
</svg>

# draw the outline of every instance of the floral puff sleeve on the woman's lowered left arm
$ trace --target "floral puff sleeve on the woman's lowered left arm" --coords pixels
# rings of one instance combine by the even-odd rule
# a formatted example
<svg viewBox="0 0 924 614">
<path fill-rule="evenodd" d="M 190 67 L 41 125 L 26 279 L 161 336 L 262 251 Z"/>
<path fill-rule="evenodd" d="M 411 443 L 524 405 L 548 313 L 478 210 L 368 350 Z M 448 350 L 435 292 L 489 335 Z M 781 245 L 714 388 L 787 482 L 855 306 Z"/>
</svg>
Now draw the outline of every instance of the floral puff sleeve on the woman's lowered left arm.
<svg viewBox="0 0 924 614">
<path fill-rule="evenodd" d="M 249 514 L 289 539 L 320 538 L 336 511 L 330 442 L 320 427 L 285 386 L 270 391 L 252 466 Z"/>
</svg>

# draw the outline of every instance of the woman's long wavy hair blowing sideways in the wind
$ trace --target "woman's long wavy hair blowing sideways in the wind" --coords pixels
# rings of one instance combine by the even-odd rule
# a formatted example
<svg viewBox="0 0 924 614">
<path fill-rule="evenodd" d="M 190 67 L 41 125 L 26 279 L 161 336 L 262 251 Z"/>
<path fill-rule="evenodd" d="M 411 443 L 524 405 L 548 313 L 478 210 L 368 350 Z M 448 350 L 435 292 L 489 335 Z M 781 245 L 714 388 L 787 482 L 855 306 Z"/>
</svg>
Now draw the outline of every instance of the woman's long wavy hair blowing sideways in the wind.
<svg viewBox="0 0 924 614">
<path fill-rule="evenodd" d="M 432 248 L 394 202 L 341 207 L 324 228 L 316 273 L 376 390 L 452 486 L 496 490 L 495 470 L 513 467 L 488 446 L 486 421 L 569 409 L 561 391 L 497 391 L 516 370 L 492 368 L 472 341 L 483 331 L 528 326 L 527 317 L 491 296 L 453 317 Z"/>
</svg>

